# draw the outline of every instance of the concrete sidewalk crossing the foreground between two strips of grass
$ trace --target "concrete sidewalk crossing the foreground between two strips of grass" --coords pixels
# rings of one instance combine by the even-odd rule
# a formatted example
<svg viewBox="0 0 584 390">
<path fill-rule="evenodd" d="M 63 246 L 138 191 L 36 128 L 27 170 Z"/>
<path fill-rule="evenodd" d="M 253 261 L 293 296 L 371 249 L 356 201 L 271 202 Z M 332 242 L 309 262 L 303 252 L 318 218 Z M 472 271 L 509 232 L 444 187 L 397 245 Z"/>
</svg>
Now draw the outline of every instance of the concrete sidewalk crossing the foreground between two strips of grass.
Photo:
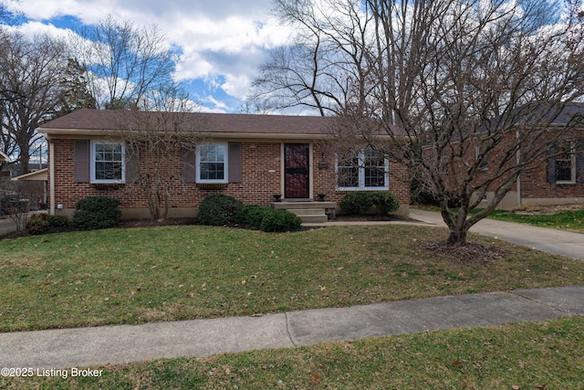
<svg viewBox="0 0 584 390">
<path fill-rule="evenodd" d="M 584 315 L 584 286 L 402 300 L 263 317 L 11 332 L 0 333 L 0 366 L 125 364 L 572 315 Z"/>
</svg>

